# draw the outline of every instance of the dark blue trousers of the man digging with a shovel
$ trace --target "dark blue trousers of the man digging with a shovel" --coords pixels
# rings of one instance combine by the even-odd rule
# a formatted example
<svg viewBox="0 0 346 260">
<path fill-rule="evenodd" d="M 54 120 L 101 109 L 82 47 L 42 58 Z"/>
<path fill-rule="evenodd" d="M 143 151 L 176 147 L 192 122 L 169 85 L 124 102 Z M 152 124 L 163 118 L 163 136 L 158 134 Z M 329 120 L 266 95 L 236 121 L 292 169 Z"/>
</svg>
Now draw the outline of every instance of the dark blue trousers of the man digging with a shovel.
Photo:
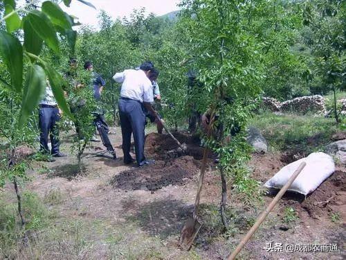
<svg viewBox="0 0 346 260">
<path fill-rule="evenodd" d="M 145 160 L 144 143 L 145 143 L 145 114 L 143 105 L 139 101 L 127 98 L 119 99 L 119 116 L 122 133 L 122 151 L 124 153 L 124 162 L 131 162 L 129 154 L 131 148 L 131 135 L 134 133 L 134 146 L 136 152 L 136 161 Z"/>
</svg>

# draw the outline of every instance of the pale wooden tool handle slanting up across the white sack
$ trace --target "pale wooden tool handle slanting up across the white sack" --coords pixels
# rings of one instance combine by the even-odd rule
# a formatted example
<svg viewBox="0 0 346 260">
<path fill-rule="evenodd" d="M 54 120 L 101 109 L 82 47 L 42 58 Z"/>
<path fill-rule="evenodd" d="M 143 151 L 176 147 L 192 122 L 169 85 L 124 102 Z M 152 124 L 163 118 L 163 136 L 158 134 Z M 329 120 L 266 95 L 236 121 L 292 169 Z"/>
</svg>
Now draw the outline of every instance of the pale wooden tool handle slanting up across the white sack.
<svg viewBox="0 0 346 260">
<path fill-rule="evenodd" d="M 282 189 L 280 189 L 279 193 L 277 193 L 275 198 L 271 201 L 271 204 L 269 204 L 268 207 L 266 208 L 266 210 L 261 214 L 261 216 L 259 218 L 257 218 L 256 223 L 253 225 L 253 227 L 251 227 L 251 229 L 248 231 L 246 236 L 244 236 L 244 239 L 242 239 L 242 241 L 239 243 L 239 245 L 237 245 L 237 248 L 235 248 L 235 250 L 233 251 L 232 254 L 228 255 L 228 257 L 227 257 L 228 260 L 233 260 L 233 259 L 235 259 L 235 257 L 237 257 L 237 254 L 242 250 L 242 248 L 244 248 L 244 245 L 248 242 L 248 240 L 251 238 L 253 233 L 256 232 L 258 227 L 260 227 L 260 225 L 262 224 L 262 222 L 264 221 L 266 216 L 268 216 L 268 214 L 272 211 L 272 209 L 275 207 L 275 205 L 277 205 L 277 202 L 284 195 L 284 193 L 287 191 L 287 189 L 289 189 L 291 184 L 294 182 L 295 178 L 298 177 L 299 173 L 302 171 L 302 169 L 306 165 L 307 165 L 306 162 L 302 162 L 300 164 L 300 166 L 298 166 L 298 168 L 295 170 L 295 172 L 289 178 L 288 182 L 284 185 L 284 187 L 282 187 Z"/>
</svg>

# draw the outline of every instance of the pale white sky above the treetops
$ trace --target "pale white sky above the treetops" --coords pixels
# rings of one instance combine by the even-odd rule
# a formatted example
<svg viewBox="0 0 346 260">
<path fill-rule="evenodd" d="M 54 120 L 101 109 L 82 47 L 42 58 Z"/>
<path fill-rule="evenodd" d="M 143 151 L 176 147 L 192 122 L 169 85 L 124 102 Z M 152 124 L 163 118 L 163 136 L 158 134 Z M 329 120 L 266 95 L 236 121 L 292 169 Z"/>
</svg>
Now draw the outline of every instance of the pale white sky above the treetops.
<svg viewBox="0 0 346 260">
<path fill-rule="evenodd" d="M 145 7 L 147 13 L 154 12 L 156 15 L 165 15 L 167 12 L 178 10 L 176 6 L 179 0 L 87 0 L 92 3 L 97 10 L 73 0 L 70 8 L 66 8 L 62 3 L 60 6 L 69 15 L 79 18 L 82 24 L 89 24 L 98 28 L 98 14 L 100 10 L 105 10 L 113 19 L 118 17 L 129 17 L 132 10 Z"/>
</svg>

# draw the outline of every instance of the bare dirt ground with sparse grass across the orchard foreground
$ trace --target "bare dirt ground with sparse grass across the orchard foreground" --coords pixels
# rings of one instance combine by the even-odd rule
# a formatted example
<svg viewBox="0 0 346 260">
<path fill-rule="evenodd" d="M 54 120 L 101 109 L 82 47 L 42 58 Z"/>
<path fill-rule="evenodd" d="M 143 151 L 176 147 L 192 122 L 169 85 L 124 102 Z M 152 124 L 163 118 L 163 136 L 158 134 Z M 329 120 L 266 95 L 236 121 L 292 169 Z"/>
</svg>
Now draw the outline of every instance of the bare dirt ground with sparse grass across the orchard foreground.
<svg viewBox="0 0 346 260">
<path fill-rule="evenodd" d="M 203 225 L 192 249 L 180 250 L 176 241 L 192 212 L 197 189 L 202 155 L 200 140 L 185 133 L 175 134 L 189 148 L 187 154 L 179 154 L 170 137 L 149 134 L 145 153 L 148 158 L 156 159 L 156 164 L 135 168 L 122 164 L 120 130 L 114 128 L 112 132 L 115 134 L 110 135 L 111 142 L 120 159 L 95 156 L 103 147 L 101 143 L 92 143 L 85 152 L 83 175 L 75 175 L 72 155 L 39 164 L 31 171 L 28 189 L 38 193 L 47 207 L 57 212 L 55 225 L 78 220 L 87 241 L 80 248 L 82 253 L 73 251 L 64 255 L 61 249 L 53 248 L 46 252 L 44 259 L 224 259 L 273 198 L 264 195 L 262 203 L 248 205 L 228 187 L 230 230 L 221 234 L 218 212 L 221 186 L 217 165 L 210 158 L 201 197 Z M 63 140 L 70 137 L 71 133 Z M 70 153 L 69 146 L 65 141 L 62 151 Z M 264 184 L 292 156 L 256 154 L 249 167 L 253 177 Z M 292 194 L 285 196 L 239 254 L 239 259 L 345 259 L 345 173 L 345 166 L 338 166 L 305 200 Z M 58 202 L 47 200 L 52 193 L 60 194 Z M 294 209 L 297 216 L 286 222 L 288 208 Z M 267 244 L 271 242 L 282 243 L 283 250 L 268 252 Z M 338 250 L 285 250 L 286 245 L 299 244 L 337 244 Z"/>
</svg>

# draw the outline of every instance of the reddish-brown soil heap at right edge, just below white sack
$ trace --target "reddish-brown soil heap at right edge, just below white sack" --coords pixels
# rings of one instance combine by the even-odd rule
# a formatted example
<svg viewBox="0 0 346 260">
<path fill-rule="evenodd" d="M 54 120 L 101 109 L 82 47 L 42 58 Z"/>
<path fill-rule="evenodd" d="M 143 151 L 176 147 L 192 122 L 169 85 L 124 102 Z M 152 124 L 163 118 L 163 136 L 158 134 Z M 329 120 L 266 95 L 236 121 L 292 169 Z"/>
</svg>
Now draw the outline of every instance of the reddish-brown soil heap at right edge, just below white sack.
<svg viewBox="0 0 346 260">
<path fill-rule="evenodd" d="M 286 198 L 284 205 L 293 205 L 298 214 L 306 211 L 309 217 L 314 219 L 328 218 L 330 212 L 339 212 L 345 219 L 346 214 L 346 181 L 345 172 L 336 171 L 331 177 L 323 182 L 320 187 L 310 193 L 307 198 Z"/>
</svg>

